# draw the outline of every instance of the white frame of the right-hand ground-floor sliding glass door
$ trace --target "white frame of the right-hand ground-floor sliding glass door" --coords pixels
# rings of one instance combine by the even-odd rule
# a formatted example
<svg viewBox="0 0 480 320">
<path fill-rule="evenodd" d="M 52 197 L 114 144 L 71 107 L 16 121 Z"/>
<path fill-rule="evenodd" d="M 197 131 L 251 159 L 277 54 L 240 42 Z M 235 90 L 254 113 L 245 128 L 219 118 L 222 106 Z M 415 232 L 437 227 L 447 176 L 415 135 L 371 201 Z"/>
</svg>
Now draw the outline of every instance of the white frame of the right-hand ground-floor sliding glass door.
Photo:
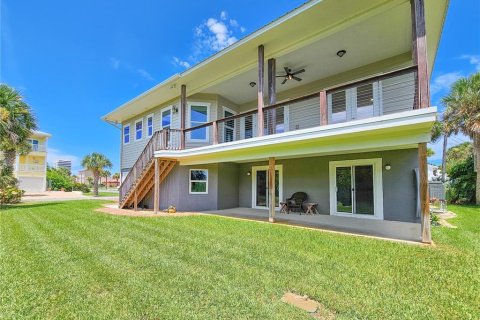
<svg viewBox="0 0 480 320">
<path fill-rule="evenodd" d="M 336 169 L 338 167 L 362 166 L 362 165 L 373 166 L 373 207 L 374 207 L 373 212 L 374 214 L 366 215 L 366 214 L 337 212 Z M 383 220 L 382 158 L 330 161 L 329 176 L 330 176 L 330 215 Z"/>
</svg>

